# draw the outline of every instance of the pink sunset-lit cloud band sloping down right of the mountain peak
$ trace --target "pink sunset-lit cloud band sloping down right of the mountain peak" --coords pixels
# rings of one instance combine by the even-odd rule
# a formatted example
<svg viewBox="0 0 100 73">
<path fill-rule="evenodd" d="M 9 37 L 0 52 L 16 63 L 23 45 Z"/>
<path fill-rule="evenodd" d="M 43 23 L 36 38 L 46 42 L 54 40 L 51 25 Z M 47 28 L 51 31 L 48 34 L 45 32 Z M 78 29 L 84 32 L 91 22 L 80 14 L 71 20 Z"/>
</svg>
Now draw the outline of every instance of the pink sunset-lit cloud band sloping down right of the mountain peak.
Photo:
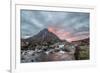
<svg viewBox="0 0 100 73">
<path fill-rule="evenodd" d="M 48 30 L 50 32 L 56 34 L 60 39 L 67 40 L 69 42 L 76 41 L 76 40 L 80 40 L 80 39 L 83 39 L 83 38 L 87 38 L 88 37 L 86 35 L 76 35 L 75 36 L 72 33 L 68 32 L 68 31 L 63 31 L 63 30 L 61 30 L 60 28 L 57 28 L 57 27 L 49 27 Z"/>
</svg>

